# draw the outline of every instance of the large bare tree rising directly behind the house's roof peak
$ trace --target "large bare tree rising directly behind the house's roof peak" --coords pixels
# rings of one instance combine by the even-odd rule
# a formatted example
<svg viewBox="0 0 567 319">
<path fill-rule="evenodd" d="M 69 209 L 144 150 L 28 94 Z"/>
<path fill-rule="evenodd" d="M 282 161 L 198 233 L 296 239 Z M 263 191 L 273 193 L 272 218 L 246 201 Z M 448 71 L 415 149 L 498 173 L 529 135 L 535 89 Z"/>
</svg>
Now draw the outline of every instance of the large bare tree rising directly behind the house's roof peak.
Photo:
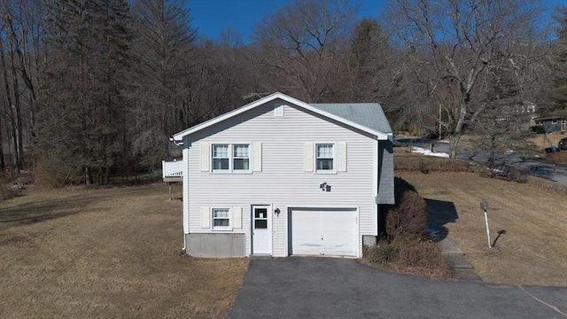
<svg viewBox="0 0 567 319">
<path fill-rule="evenodd" d="M 297 0 L 262 19 L 252 39 L 271 86 L 310 102 L 332 95 L 355 12 L 346 0 Z"/>
</svg>

